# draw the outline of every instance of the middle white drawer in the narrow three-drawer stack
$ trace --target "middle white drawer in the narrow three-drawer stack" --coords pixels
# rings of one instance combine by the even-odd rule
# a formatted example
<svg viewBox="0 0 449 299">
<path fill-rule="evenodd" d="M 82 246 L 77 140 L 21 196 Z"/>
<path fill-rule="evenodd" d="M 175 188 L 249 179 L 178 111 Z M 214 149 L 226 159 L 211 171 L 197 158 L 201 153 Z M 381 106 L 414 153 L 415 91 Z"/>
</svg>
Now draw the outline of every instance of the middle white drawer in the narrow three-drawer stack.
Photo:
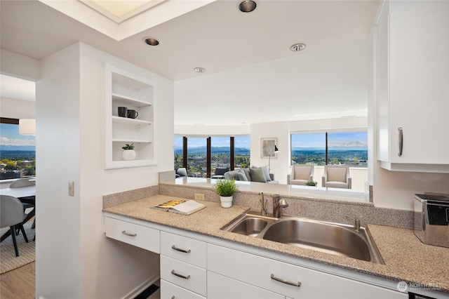
<svg viewBox="0 0 449 299">
<path fill-rule="evenodd" d="M 206 270 L 161 255 L 161 279 L 206 296 Z"/>
</svg>

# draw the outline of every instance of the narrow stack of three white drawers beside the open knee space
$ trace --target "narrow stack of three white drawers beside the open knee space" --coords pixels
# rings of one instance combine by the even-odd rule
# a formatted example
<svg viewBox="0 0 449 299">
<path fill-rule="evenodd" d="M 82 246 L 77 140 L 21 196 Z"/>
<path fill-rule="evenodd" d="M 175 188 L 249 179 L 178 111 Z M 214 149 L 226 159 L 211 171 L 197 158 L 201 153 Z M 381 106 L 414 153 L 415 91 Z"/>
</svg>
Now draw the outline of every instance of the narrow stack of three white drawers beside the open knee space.
<svg viewBox="0 0 449 299">
<path fill-rule="evenodd" d="M 181 298 L 180 288 L 206 297 L 206 243 L 161 232 L 161 281 L 178 287 L 163 298 Z"/>
</svg>

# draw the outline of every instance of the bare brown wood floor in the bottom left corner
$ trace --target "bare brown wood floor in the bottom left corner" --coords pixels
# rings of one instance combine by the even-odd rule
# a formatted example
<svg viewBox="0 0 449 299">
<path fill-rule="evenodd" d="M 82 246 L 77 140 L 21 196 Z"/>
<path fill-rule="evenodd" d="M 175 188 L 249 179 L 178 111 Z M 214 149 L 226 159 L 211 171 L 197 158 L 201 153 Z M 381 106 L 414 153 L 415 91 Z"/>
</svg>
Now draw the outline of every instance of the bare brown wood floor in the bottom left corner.
<svg viewBox="0 0 449 299">
<path fill-rule="evenodd" d="M 33 299 L 36 293 L 36 262 L 0 275 L 1 299 Z"/>
</svg>

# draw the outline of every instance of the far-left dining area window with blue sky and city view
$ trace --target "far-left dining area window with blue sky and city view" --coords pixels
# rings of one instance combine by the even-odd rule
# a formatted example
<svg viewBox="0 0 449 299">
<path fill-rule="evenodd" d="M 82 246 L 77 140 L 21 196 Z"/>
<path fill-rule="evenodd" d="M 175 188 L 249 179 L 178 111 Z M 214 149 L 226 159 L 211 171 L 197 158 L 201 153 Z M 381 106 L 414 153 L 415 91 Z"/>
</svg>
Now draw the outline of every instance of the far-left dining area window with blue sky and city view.
<svg viewBox="0 0 449 299">
<path fill-rule="evenodd" d="M 1 118 L 1 180 L 36 175 L 36 141 L 32 135 L 19 134 L 19 120 Z"/>
</svg>

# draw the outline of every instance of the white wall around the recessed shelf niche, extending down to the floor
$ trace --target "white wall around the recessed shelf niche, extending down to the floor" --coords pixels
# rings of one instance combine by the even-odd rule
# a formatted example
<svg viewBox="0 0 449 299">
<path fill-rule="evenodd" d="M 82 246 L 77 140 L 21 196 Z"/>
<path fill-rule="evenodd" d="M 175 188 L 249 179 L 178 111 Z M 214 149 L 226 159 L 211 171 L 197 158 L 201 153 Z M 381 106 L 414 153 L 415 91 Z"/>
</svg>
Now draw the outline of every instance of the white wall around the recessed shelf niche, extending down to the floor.
<svg viewBox="0 0 449 299">
<path fill-rule="evenodd" d="M 104 63 L 156 81 L 157 166 L 104 169 Z M 102 195 L 173 170 L 173 81 L 75 44 L 42 61 L 36 88 L 36 296 L 122 298 L 159 274 L 159 255 L 107 239 Z M 75 196 L 67 195 L 73 180 Z"/>
</svg>

